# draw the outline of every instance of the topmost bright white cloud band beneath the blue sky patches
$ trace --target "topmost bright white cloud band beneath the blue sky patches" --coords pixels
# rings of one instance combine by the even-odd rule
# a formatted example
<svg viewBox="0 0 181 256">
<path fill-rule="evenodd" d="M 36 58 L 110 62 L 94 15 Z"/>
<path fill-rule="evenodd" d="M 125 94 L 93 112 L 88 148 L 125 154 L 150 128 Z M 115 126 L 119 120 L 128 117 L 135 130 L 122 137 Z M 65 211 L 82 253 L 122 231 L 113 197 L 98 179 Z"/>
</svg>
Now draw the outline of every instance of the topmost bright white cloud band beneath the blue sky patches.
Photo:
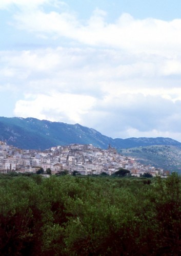
<svg viewBox="0 0 181 256">
<path fill-rule="evenodd" d="M 181 19 L 169 22 L 154 18 L 135 19 L 122 14 L 107 23 L 106 12 L 96 9 L 87 20 L 67 11 L 20 12 L 14 15 L 16 26 L 52 38 L 69 38 L 89 46 L 112 47 L 134 53 L 167 55 L 178 53 L 181 43 Z"/>
</svg>

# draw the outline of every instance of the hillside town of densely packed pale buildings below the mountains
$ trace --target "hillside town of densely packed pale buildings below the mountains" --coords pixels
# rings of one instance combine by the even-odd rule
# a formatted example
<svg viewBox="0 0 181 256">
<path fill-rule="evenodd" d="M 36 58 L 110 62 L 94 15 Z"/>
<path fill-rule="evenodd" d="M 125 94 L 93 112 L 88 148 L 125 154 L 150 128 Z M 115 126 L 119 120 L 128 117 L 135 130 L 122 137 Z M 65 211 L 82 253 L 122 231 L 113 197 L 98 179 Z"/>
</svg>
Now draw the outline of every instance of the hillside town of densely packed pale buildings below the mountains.
<svg viewBox="0 0 181 256">
<path fill-rule="evenodd" d="M 134 158 L 120 155 L 111 146 L 107 150 L 92 144 L 70 144 L 51 147 L 46 151 L 21 150 L 0 141 L 0 172 L 36 173 L 39 168 L 51 169 L 52 174 L 65 170 L 82 175 L 112 175 L 119 168 L 130 170 L 131 175 L 149 173 L 166 177 L 169 171 L 138 163 Z"/>
</svg>

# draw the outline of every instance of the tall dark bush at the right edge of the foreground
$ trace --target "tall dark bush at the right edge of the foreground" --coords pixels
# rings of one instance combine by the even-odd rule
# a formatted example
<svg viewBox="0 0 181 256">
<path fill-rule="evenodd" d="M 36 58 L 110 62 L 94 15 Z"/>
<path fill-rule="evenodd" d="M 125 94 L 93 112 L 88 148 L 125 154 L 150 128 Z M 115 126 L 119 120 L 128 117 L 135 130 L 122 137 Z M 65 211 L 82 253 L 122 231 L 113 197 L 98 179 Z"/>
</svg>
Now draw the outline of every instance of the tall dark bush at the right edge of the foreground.
<svg viewBox="0 0 181 256">
<path fill-rule="evenodd" d="M 156 177 L 151 191 L 152 206 L 157 222 L 157 253 L 180 255 L 181 251 L 181 177 L 172 173 L 167 179 Z"/>
</svg>

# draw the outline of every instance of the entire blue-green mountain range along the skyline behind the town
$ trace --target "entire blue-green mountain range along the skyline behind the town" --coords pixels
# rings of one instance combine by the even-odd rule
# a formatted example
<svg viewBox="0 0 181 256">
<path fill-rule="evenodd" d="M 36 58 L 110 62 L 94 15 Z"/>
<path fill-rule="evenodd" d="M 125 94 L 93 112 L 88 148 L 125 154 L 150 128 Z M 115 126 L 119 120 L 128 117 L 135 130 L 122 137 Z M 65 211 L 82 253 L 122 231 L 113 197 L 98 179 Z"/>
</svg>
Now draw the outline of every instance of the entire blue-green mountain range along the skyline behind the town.
<svg viewBox="0 0 181 256">
<path fill-rule="evenodd" d="M 181 148 L 181 143 L 170 138 L 110 138 L 80 124 L 50 122 L 36 118 L 0 117 L 0 140 L 24 149 L 45 150 L 51 146 L 71 143 L 93 144 L 107 148 L 130 148 L 150 145 L 170 145 Z"/>
</svg>

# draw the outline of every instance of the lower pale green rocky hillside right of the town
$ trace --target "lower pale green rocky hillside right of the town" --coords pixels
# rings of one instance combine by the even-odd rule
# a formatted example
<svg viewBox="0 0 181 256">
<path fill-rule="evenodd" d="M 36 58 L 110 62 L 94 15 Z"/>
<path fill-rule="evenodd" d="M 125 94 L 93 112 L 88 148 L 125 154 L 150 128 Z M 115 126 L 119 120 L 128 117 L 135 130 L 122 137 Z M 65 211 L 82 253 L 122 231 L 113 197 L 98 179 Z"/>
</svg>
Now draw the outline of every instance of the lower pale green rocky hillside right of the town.
<svg viewBox="0 0 181 256">
<path fill-rule="evenodd" d="M 154 145 L 119 150 L 125 156 L 132 156 L 138 162 L 181 172 L 181 148 L 168 145 Z"/>
</svg>

